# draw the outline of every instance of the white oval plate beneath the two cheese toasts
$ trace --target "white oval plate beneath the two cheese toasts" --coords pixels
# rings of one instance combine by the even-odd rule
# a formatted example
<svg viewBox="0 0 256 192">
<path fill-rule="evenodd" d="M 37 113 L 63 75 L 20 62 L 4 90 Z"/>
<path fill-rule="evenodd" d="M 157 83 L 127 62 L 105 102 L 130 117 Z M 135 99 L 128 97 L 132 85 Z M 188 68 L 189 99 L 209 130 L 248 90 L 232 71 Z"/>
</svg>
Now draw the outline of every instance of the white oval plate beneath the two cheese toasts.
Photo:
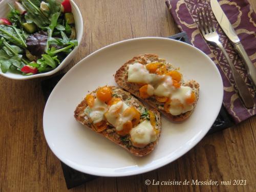
<svg viewBox="0 0 256 192">
<path fill-rule="evenodd" d="M 155 53 L 180 67 L 185 79 L 200 84 L 194 113 L 182 123 L 162 117 L 155 150 L 136 157 L 76 122 L 74 110 L 88 91 L 116 85 L 113 74 L 133 56 Z M 184 155 L 208 132 L 220 111 L 223 85 L 215 63 L 202 51 L 177 40 L 144 37 L 106 46 L 82 59 L 58 82 L 44 111 L 44 133 L 53 153 L 80 172 L 98 176 L 129 176 L 161 167 Z"/>
</svg>

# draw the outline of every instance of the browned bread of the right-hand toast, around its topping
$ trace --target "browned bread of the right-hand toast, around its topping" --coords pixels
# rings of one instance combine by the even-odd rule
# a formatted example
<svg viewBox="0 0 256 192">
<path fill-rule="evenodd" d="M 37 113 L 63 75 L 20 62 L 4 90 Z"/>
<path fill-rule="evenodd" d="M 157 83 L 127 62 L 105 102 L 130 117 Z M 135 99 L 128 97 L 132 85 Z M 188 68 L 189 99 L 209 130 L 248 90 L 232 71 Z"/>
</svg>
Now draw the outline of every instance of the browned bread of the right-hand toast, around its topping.
<svg viewBox="0 0 256 192">
<path fill-rule="evenodd" d="M 133 59 L 125 62 L 124 65 L 119 70 L 117 70 L 117 72 L 115 74 L 115 81 L 118 84 L 118 86 L 120 86 L 121 88 L 125 89 L 126 91 L 132 93 L 133 95 L 140 98 L 141 100 L 145 101 L 147 104 L 151 105 L 153 108 L 155 108 L 156 110 L 158 110 L 162 114 L 164 114 L 169 120 L 183 121 L 183 120 L 187 119 L 193 113 L 195 106 L 197 104 L 197 100 L 199 98 L 199 83 L 195 80 L 189 80 L 189 81 L 184 82 L 182 79 L 182 85 L 189 86 L 195 92 L 196 102 L 193 105 L 194 106 L 193 110 L 183 113 L 181 115 L 172 115 L 172 114 L 166 113 L 163 108 L 163 103 L 157 101 L 155 99 L 155 97 L 150 97 L 147 99 L 141 98 L 140 94 L 139 94 L 139 88 L 141 86 L 137 83 L 127 81 L 127 78 L 128 78 L 127 70 L 128 70 L 129 65 L 131 65 L 135 62 L 139 62 L 143 65 L 146 65 L 148 61 L 150 61 L 150 62 L 153 62 L 153 61 L 165 62 L 165 59 L 158 58 L 158 55 L 156 55 L 156 54 L 143 54 L 143 55 L 136 56 Z M 174 66 L 172 66 L 170 63 L 167 63 L 167 65 L 171 69 L 177 69 Z"/>
</svg>

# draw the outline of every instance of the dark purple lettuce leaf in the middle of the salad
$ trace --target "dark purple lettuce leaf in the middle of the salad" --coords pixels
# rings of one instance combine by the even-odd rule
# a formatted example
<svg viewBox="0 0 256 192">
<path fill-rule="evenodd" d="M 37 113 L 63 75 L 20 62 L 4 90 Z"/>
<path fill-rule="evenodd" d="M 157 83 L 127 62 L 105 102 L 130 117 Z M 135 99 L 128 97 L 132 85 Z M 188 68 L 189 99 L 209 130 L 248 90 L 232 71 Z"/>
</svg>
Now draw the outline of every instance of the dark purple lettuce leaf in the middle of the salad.
<svg viewBox="0 0 256 192">
<path fill-rule="evenodd" d="M 48 35 L 44 31 L 29 35 L 26 39 L 27 49 L 32 55 L 40 58 L 41 55 L 45 53 L 47 38 Z"/>
</svg>

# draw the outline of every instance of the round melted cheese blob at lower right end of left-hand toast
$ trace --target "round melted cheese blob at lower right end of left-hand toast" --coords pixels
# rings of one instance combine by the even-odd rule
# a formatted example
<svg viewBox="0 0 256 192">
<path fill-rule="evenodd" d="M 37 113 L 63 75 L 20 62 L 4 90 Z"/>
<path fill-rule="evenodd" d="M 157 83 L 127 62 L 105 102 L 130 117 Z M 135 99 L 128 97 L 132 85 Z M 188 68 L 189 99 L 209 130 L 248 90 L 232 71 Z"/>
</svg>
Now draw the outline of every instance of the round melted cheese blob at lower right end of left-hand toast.
<svg viewBox="0 0 256 192">
<path fill-rule="evenodd" d="M 131 141 L 134 146 L 143 148 L 148 143 L 157 139 L 156 132 L 148 120 L 144 120 L 130 131 Z"/>
</svg>

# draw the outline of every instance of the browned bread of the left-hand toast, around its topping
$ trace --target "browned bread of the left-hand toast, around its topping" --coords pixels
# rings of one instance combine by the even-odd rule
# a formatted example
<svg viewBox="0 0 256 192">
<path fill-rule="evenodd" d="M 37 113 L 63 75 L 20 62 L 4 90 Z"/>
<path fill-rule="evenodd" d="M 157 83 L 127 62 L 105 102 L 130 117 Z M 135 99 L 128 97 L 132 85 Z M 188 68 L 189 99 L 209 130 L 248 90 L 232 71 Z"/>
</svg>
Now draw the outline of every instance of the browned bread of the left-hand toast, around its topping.
<svg viewBox="0 0 256 192">
<path fill-rule="evenodd" d="M 109 86 L 110 87 L 110 86 Z M 123 91 L 120 88 L 111 86 L 110 87 L 112 90 L 112 93 L 121 96 L 121 99 L 128 105 L 130 106 L 134 106 L 136 109 L 138 109 L 139 111 L 143 110 L 145 108 L 145 106 L 138 100 L 136 99 L 134 96 L 132 96 L 130 93 Z M 97 90 L 91 92 L 90 94 L 92 95 L 96 95 Z M 82 123 L 84 126 L 88 127 L 89 129 L 91 129 L 92 131 L 96 132 L 94 127 L 92 126 L 92 123 L 90 121 L 90 119 L 87 117 L 86 114 L 84 114 L 84 110 L 87 108 L 88 103 L 86 102 L 86 99 L 83 99 L 81 101 L 80 104 L 78 104 L 75 112 L 74 112 L 74 117 L 75 119 Z M 142 106 L 142 108 L 141 108 Z M 157 136 L 156 141 L 146 145 L 143 148 L 139 148 L 139 147 L 135 147 L 132 145 L 127 146 L 127 144 L 124 144 L 122 141 L 122 136 L 118 135 L 116 133 L 116 129 L 115 127 L 108 125 L 107 129 L 102 131 L 102 132 L 96 132 L 100 135 L 102 135 L 103 137 L 108 138 L 109 140 L 113 141 L 114 143 L 118 144 L 119 146 L 125 148 L 125 150 L 129 151 L 130 153 L 132 153 L 133 155 L 136 156 L 145 156 L 149 153 L 151 153 L 154 148 L 156 147 L 159 137 L 160 137 L 160 133 L 161 133 L 161 117 L 160 117 L 160 113 L 155 110 L 154 108 L 148 109 L 150 111 L 152 111 L 155 116 L 156 116 L 156 129 L 159 131 L 159 134 Z M 130 136 L 128 136 L 130 138 Z M 130 142 L 131 144 L 131 142 Z"/>
</svg>

